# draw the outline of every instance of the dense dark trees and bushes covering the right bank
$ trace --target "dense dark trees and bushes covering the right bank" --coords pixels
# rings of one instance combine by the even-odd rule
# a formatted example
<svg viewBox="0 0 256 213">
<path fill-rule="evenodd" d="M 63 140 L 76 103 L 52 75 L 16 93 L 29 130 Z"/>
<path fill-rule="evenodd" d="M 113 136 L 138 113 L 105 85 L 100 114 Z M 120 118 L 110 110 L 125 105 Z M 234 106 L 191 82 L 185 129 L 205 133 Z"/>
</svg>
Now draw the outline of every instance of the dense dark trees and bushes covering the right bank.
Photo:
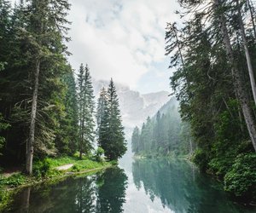
<svg viewBox="0 0 256 213">
<path fill-rule="evenodd" d="M 256 199 L 256 28 L 252 1 L 179 1 L 166 27 L 172 89 L 198 149 L 194 161 L 227 191 Z"/>
</svg>

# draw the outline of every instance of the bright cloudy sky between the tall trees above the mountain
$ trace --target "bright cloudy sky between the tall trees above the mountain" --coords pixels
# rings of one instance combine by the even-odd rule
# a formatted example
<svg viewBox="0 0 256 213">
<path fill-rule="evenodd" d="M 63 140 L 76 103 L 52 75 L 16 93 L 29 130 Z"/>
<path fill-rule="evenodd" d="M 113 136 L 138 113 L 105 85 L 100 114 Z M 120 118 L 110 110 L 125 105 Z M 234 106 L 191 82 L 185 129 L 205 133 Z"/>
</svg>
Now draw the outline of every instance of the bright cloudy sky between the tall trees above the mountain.
<svg viewBox="0 0 256 213">
<path fill-rule="evenodd" d="M 67 46 L 73 69 L 88 64 L 92 78 L 113 78 L 143 94 L 171 91 L 165 28 L 177 20 L 177 0 L 69 2 L 72 41 Z"/>
</svg>

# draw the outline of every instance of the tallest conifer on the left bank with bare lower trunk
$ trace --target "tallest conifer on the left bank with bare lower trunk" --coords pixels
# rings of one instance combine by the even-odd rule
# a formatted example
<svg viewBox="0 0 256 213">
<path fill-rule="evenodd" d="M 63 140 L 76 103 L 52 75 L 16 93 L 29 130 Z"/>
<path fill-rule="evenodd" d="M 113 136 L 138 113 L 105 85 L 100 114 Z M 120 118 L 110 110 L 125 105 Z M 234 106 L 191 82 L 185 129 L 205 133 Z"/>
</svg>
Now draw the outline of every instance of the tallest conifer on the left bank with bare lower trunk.
<svg viewBox="0 0 256 213">
<path fill-rule="evenodd" d="M 69 67 L 64 45 L 68 41 L 68 9 L 66 0 L 20 3 L 5 32 L 9 48 L 1 51 L 4 58 L 0 60 L 6 66 L 0 73 L 0 99 L 4 100 L 0 112 L 11 128 L 4 132 L 9 149 L 4 150 L 3 157 L 21 164 L 26 154 L 28 174 L 32 173 L 34 153 L 40 158 L 56 151 L 55 138 L 65 113 L 65 83 L 61 78 Z"/>
</svg>

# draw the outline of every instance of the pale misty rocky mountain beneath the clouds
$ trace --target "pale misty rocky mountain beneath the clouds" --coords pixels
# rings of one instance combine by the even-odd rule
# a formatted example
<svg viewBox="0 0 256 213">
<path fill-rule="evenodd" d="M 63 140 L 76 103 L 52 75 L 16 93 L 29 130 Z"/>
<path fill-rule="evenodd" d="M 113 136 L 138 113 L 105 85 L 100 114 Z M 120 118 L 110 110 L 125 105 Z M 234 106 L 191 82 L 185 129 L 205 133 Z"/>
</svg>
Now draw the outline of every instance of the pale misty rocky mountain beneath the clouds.
<svg viewBox="0 0 256 213">
<path fill-rule="evenodd" d="M 102 87 L 108 88 L 108 81 L 94 79 L 92 83 L 96 97 Z M 123 84 L 115 83 L 115 86 L 126 135 L 130 135 L 135 126 L 141 126 L 148 116 L 154 116 L 160 107 L 170 100 L 166 91 L 141 95 Z"/>
</svg>

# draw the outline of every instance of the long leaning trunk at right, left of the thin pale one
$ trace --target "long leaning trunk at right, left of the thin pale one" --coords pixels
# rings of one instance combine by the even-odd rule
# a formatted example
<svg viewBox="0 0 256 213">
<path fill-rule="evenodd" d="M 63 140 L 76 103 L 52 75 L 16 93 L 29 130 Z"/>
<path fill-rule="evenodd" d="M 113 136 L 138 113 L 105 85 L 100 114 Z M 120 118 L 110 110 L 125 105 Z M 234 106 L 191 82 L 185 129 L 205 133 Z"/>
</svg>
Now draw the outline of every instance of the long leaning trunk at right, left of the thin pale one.
<svg viewBox="0 0 256 213">
<path fill-rule="evenodd" d="M 214 0 L 215 4 L 215 10 L 218 14 L 218 7 L 219 7 L 219 0 Z M 233 77 L 233 83 L 234 88 L 237 92 L 240 104 L 241 104 L 241 110 L 243 113 L 243 117 L 245 118 L 246 124 L 247 124 L 247 130 L 250 135 L 251 141 L 253 142 L 253 147 L 256 152 L 256 128 L 253 120 L 253 113 L 248 105 L 249 101 L 247 98 L 247 93 L 245 89 L 243 88 L 243 83 L 241 81 L 240 72 L 238 70 L 238 67 L 236 65 L 236 61 L 233 55 L 233 50 L 230 43 L 230 37 L 229 32 L 227 30 L 226 26 L 226 20 L 224 18 L 223 12 L 218 14 L 218 22 L 221 26 L 221 33 L 224 38 L 224 45 L 227 53 L 228 60 L 230 62 L 231 66 L 231 72 Z"/>
</svg>

